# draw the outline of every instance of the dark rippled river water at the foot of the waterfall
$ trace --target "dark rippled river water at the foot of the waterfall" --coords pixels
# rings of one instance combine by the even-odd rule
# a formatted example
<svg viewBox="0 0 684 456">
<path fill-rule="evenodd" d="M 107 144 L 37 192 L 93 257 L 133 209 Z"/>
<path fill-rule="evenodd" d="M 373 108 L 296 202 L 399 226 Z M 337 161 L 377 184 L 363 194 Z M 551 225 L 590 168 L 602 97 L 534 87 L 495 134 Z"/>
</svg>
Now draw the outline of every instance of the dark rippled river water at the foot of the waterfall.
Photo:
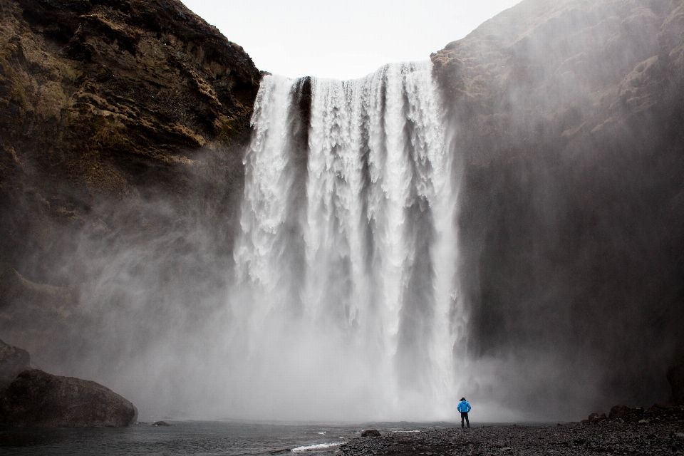
<svg viewBox="0 0 684 456">
<path fill-rule="evenodd" d="M 314 425 L 169 421 L 170 426 L 0 430 L 3 455 L 309 455 L 333 453 L 361 430 L 420 431 L 450 423 Z"/>
</svg>

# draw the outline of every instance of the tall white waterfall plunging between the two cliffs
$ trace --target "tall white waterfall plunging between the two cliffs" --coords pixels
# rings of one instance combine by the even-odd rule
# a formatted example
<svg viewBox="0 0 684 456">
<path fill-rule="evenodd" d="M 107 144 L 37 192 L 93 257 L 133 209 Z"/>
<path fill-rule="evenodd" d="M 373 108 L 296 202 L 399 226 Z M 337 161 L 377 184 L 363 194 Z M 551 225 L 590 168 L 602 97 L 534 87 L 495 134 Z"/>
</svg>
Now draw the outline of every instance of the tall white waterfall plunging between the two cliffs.
<svg viewBox="0 0 684 456">
<path fill-rule="evenodd" d="M 457 186 L 431 70 L 264 77 L 229 299 L 236 413 L 454 415 Z"/>
</svg>

